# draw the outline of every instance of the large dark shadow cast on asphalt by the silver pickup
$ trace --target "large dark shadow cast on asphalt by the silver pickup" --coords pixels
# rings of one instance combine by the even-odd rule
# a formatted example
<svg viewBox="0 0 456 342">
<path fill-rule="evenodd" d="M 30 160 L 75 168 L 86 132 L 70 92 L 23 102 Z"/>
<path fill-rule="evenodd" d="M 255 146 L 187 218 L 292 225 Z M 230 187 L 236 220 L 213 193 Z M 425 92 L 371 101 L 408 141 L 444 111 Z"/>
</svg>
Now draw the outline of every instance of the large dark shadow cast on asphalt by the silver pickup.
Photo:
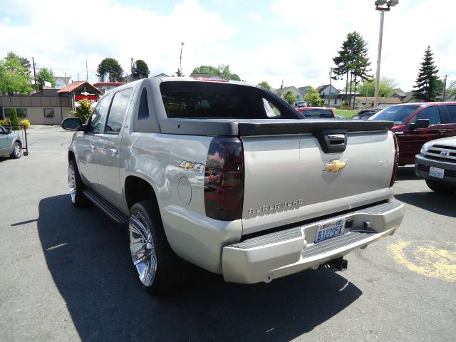
<svg viewBox="0 0 456 342">
<path fill-rule="evenodd" d="M 41 200 L 38 234 L 82 341 L 289 341 L 362 294 L 330 269 L 256 285 L 195 269 L 184 290 L 154 298 L 135 281 L 123 229 L 68 195 Z"/>
</svg>

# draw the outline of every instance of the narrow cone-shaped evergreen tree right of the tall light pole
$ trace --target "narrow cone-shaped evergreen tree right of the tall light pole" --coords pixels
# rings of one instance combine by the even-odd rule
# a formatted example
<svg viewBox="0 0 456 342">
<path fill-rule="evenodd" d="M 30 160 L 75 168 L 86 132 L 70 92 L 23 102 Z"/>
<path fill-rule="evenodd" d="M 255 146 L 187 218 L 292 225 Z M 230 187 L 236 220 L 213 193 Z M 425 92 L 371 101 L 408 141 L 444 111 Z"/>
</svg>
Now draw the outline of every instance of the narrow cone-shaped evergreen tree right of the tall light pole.
<svg viewBox="0 0 456 342">
<path fill-rule="evenodd" d="M 430 46 L 427 46 L 423 62 L 421 62 L 420 72 L 416 79 L 416 85 L 413 86 L 413 95 L 415 98 L 425 102 L 435 101 L 437 95 L 440 93 L 439 82 L 437 73 L 439 72 L 437 66 L 434 65 L 434 58 L 432 58 L 432 51 Z"/>
</svg>

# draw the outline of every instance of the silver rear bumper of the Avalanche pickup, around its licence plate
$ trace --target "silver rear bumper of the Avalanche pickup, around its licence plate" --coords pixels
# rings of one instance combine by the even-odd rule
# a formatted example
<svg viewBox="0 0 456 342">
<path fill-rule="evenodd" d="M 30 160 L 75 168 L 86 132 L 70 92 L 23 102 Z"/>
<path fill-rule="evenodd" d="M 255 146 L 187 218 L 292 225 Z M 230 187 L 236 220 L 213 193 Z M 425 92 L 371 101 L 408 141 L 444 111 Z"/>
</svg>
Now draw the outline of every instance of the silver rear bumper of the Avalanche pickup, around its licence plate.
<svg viewBox="0 0 456 342">
<path fill-rule="evenodd" d="M 403 215 L 404 205 L 399 202 L 378 204 L 331 218 L 353 219 L 353 227 L 318 244 L 314 244 L 318 224 L 327 220 L 232 244 L 223 249 L 224 279 L 254 284 L 316 267 L 393 234 Z"/>
</svg>

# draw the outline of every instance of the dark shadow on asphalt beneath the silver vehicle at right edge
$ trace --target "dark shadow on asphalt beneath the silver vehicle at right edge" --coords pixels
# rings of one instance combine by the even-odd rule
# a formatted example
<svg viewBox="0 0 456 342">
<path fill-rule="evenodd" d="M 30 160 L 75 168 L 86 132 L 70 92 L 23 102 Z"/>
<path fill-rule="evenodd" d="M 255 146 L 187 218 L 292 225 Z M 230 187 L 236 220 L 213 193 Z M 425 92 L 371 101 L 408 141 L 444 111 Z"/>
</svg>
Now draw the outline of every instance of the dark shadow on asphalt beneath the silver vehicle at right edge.
<svg viewBox="0 0 456 342">
<path fill-rule="evenodd" d="M 400 202 L 411 204 L 428 212 L 447 217 L 456 217 L 455 194 L 437 194 L 429 190 L 428 192 L 405 192 L 394 197 L 399 199 Z"/>
</svg>

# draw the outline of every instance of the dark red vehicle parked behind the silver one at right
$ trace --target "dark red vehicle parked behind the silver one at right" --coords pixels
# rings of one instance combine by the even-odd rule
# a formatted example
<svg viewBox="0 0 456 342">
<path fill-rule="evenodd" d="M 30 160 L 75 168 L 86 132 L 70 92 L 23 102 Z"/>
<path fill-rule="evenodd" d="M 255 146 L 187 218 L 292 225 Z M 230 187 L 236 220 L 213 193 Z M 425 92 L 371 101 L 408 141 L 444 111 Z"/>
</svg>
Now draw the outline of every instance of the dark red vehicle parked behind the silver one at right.
<svg viewBox="0 0 456 342">
<path fill-rule="evenodd" d="M 391 105 L 368 120 L 393 121 L 399 165 L 413 164 L 425 142 L 456 135 L 456 102 Z"/>
</svg>

